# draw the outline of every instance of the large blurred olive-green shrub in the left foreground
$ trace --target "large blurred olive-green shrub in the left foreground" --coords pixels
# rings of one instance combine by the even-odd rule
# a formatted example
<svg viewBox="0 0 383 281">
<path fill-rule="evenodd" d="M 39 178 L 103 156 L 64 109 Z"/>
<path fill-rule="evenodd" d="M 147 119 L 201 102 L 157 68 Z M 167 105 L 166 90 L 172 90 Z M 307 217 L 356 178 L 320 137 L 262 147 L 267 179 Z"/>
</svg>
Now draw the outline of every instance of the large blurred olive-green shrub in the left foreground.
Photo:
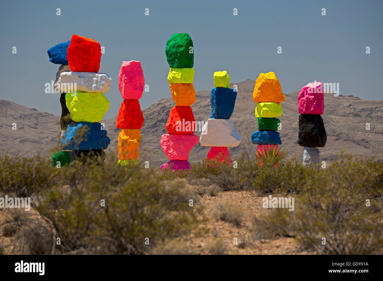
<svg viewBox="0 0 383 281">
<path fill-rule="evenodd" d="M 186 182 L 169 183 L 157 170 L 116 161 L 103 166 L 72 162 L 60 170 L 59 184 L 40 193 L 37 210 L 52 223 L 63 253 L 142 254 L 198 223 L 188 205 L 192 193 L 182 193 Z"/>
</svg>

